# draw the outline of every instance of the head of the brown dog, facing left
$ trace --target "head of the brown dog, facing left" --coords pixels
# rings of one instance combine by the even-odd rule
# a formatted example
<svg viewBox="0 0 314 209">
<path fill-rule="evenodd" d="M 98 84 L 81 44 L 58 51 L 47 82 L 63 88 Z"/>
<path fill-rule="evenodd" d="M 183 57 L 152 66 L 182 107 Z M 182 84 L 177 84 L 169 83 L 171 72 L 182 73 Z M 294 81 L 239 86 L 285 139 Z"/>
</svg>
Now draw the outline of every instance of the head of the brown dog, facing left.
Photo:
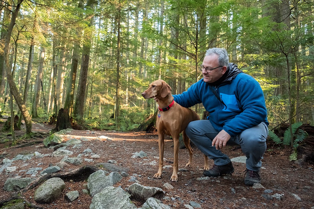
<svg viewBox="0 0 314 209">
<path fill-rule="evenodd" d="M 142 96 L 144 98 L 164 98 L 171 92 L 171 87 L 164 80 L 156 80 L 149 84 L 148 89 L 146 89 Z"/>
</svg>

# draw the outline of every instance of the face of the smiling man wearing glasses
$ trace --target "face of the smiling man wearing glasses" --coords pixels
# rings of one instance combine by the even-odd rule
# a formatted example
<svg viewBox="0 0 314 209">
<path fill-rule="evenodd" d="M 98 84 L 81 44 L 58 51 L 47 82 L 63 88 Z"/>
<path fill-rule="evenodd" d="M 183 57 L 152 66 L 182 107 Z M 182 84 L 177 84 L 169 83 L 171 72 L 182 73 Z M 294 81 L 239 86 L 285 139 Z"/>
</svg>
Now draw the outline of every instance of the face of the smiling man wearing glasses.
<svg viewBox="0 0 314 209">
<path fill-rule="evenodd" d="M 205 56 L 203 60 L 203 66 L 206 68 L 215 68 L 220 66 L 218 62 L 218 55 Z M 213 69 L 210 73 L 207 72 L 205 69 L 202 70 L 204 82 L 213 83 L 217 81 L 219 78 L 221 78 L 222 75 L 225 74 L 226 70 L 227 70 L 226 66 Z"/>
</svg>

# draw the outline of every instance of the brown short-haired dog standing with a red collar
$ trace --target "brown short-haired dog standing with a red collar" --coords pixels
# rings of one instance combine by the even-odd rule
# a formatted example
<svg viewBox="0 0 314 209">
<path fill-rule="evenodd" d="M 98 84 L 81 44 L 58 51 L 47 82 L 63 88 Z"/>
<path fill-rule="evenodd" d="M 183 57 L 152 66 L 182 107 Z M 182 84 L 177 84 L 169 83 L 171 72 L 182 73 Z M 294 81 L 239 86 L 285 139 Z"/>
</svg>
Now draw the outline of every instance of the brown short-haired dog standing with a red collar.
<svg viewBox="0 0 314 209">
<path fill-rule="evenodd" d="M 158 132 L 158 146 L 159 146 L 159 169 L 154 175 L 154 178 L 160 179 L 162 175 L 162 167 L 164 165 L 164 139 L 165 134 L 172 136 L 174 142 L 174 160 L 173 172 L 171 181 L 178 180 L 178 152 L 179 152 L 179 134 L 182 132 L 183 142 L 188 149 L 190 158 L 186 167 L 192 165 L 193 150 L 190 145 L 190 139 L 185 133 L 187 124 L 191 121 L 199 120 L 199 116 L 193 110 L 182 107 L 174 102 L 171 94 L 171 87 L 163 80 L 157 80 L 149 84 L 147 90 L 142 93 L 144 98 L 158 99 L 159 114 L 156 120 L 156 128 Z M 204 170 L 208 170 L 208 158 L 205 155 Z"/>
</svg>

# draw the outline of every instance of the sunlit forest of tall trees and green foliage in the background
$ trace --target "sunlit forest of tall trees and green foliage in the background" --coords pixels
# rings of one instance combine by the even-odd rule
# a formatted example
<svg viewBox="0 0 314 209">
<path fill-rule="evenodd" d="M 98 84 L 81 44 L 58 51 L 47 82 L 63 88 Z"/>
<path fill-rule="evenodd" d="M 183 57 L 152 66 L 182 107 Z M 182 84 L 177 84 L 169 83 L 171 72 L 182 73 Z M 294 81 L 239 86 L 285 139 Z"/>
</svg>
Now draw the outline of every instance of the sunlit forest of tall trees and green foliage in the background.
<svg viewBox="0 0 314 209">
<path fill-rule="evenodd" d="M 129 131 L 202 78 L 208 48 L 262 86 L 270 128 L 314 124 L 313 0 L 1 0 L 0 115 Z M 202 117 L 202 104 L 192 107 Z M 14 118 L 14 117 L 12 117 Z"/>
</svg>

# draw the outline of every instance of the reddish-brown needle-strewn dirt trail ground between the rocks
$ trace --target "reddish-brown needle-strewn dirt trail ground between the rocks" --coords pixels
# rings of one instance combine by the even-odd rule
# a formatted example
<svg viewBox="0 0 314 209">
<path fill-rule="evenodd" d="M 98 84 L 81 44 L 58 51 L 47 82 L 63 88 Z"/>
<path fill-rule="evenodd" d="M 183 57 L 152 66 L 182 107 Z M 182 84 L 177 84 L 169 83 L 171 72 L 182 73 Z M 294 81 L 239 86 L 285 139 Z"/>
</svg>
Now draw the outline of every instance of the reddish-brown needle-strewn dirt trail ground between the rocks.
<svg viewBox="0 0 314 209">
<path fill-rule="evenodd" d="M 4 119 L 2 119 L 4 120 Z M 3 123 L 0 123 L 2 128 Z M 33 132 L 47 133 L 51 125 L 46 123 L 34 123 Z M 17 137 L 24 134 L 24 130 L 16 131 Z M 2 132 L 4 138 L 10 138 Z M 111 140 L 99 139 L 100 136 L 110 137 Z M 4 138 L 0 138 L 3 142 Z M 210 178 L 210 180 L 198 180 L 203 176 L 204 156 L 196 148 L 193 147 L 193 164 L 191 168 L 185 168 L 188 161 L 188 152 L 186 149 L 179 150 L 179 169 L 178 181 L 170 180 L 172 168 L 164 169 L 161 179 L 154 179 L 153 176 L 158 170 L 158 135 L 157 133 L 144 132 L 116 132 L 116 131 L 99 131 L 99 130 L 73 130 L 65 136 L 65 138 L 88 138 L 89 141 L 84 142 L 82 150 L 90 148 L 93 153 L 99 154 L 100 159 L 95 159 L 91 163 L 83 162 L 83 165 L 95 165 L 108 160 L 115 160 L 117 165 L 128 169 L 128 174 L 137 175 L 138 183 L 144 186 L 160 187 L 165 191 L 168 199 L 162 199 L 163 203 L 171 205 L 172 208 L 185 208 L 185 204 L 190 201 L 197 202 L 202 208 L 313 208 L 314 207 L 314 165 L 304 162 L 302 165 L 289 161 L 291 149 L 277 149 L 277 146 L 268 142 L 268 150 L 264 155 L 263 169 L 261 170 L 262 185 L 264 189 L 254 189 L 251 186 L 244 185 L 245 164 L 233 163 L 235 172 L 232 175 Z M 10 146 L 10 142 L 0 143 L 0 154 L 8 153 L 5 157 L 12 159 L 17 154 L 30 154 L 35 151 L 41 154 L 51 154 L 53 150 L 43 146 L 43 138 L 33 138 L 30 141 L 19 142 L 15 146 Z M 27 147 L 20 147 L 21 144 L 36 142 Z M 167 159 L 164 165 L 172 165 L 173 163 L 173 142 L 171 138 L 165 139 L 165 154 Z M 71 150 L 71 148 L 67 148 Z M 71 150 L 73 151 L 73 150 Z M 131 158 L 133 153 L 143 151 L 147 154 L 145 158 Z M 230 158 L 243 156 L 241 148 L 227 146 L 223 150 Z M 73 151 L 74 152 L 74 151 Z M 75 151 L 77 152 L 77 151 Z M 78 154 L 78 153 L 76 153 Z M 75 155 L 75 153 L 74 153 Z M 74 156 L 75 157 L 75 156 Z M 38 167 L 37 164 L 42 162 L 41 167 L 45 169 L 49 164 L 55 165 L 62 159 L 56 157 L 34 158 L 29 162 L 22 162 L 15 171 L 15 175 L 21 177 L 30 177 L 29 175 L 19 172 L 25 169 L 21 167 L 27 163 L 27 167 Z M 2 161 L 2 159 L 1 159 Z M 156 161 L 156 165 L 144 165 Z M 79 168 L 83 165 L 70 165 L 62 168 L 59 172 L 66 172 Z M 213 161 L 209 160 L 209 166 L 212 167 Z M 14 177 L 14 174 L 5 171 L 0 175 L 0 201 L 11 196 L 12 192 L 4 191 L 3 185 L 7 178 Z M 114 186 L 122 186 L 127 188 L 133 182 L 129 182 L 130 178 L 124 177 L 118 184 Z M 66 182 L 66 189 L 63 195 L 51 204 L 40 205 L 33 201 L 35 189 L 24 193 L 25 198 L 42 208 L 83 208 L 88 209 L 91 203 L 91 197 L 81 192 L 86 182 Z M 170 183 L 174 189 L 168 190 L 163 185 Z M 270 193 L 266 193 L 267 189 Z M 68 203 L 64 199 L 64 194 L 68 191 L 80 191 L 78 200 Z M 283 195 L 282 199 L 273 198 L 266 200 L 265 194 L 270 196 L 275 194 Z M 300 199 L 298 199 L 299 197 Z M 141 203 L 133 200 L 140 207 Z"/>
</svg>

